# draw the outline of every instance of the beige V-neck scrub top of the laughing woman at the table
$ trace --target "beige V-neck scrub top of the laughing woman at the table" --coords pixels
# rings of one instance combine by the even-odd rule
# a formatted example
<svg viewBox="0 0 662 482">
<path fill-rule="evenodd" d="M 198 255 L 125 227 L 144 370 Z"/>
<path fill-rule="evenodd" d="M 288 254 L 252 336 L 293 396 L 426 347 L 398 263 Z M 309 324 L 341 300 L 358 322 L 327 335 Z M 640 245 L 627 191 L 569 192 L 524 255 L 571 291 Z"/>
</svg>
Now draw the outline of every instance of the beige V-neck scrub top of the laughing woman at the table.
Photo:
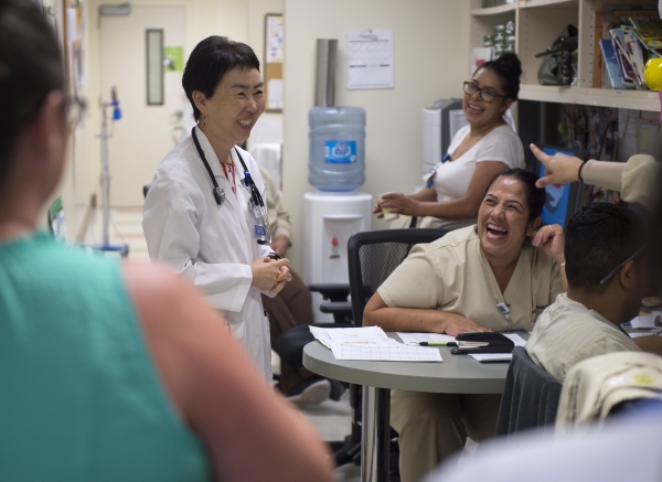
<svg viewBox="0 0 662 482">
<path fill-rule="evenodd" d="M 480 248 L 474 226 L 416 245 L 377 292 L 389 307 L 447 311 L 493 331 L 533 330 L 533 324 L 563 291 L 560 268 L 530 240 L 501 293 Z M 499 311 L 505 303 L 510 319 Z"/>
</svg>

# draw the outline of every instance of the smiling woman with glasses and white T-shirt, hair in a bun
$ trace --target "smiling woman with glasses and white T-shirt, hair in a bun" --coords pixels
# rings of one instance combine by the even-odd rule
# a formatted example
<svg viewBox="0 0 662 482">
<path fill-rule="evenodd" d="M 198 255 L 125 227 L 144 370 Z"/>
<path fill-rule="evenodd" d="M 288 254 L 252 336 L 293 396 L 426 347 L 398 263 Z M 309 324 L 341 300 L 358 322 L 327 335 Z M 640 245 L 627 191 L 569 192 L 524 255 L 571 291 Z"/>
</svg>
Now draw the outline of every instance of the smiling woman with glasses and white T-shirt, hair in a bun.
<svg viewBox="0 0 662 482">
<path fill-rule="evenodd" d="M 434 217 L 435 227 L 456 229 L 476 224 L 490 180 L 508 168 L 524 168 L 524 149 L 505 115 L 517 100 L 522 65 L 515 54 L 482 64 L 465 82 L 462 108 L 469 126 L 457 131 L 448 152 L 425 178 L 416 194 L 383 194 L 373 213 Z M 405 217 L 394 225 L 407 222 Z M 420 224 L 419 224 L 420 225 Z M 404 225 L 402 227 L 405 227 Z"/>
</svg>

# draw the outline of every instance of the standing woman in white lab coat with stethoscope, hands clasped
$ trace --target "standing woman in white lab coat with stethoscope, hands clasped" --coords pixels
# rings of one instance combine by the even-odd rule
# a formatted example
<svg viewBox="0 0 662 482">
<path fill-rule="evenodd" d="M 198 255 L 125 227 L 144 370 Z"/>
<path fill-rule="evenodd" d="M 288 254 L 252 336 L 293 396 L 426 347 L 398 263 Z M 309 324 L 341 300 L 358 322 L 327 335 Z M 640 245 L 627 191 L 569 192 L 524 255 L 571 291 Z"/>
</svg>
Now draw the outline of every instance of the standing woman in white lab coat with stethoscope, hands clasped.
<svg viewBox="0 0 662 482">
<path fill-rule="evenodd" d="M 275 296 L 291 275 L 287 259 L 269 258 L 276 256 L 260 206 L 265 188 L 253 157 L 237 147 L 265 109 L 259 61 L 248 45 L 210 36 L 191 53 L 182 84 L 197 126 L 154 174 L 142 222 L 149 255 L 189 278 L 225 313 L 270 379 L 260 292 Z"/>
</svg>

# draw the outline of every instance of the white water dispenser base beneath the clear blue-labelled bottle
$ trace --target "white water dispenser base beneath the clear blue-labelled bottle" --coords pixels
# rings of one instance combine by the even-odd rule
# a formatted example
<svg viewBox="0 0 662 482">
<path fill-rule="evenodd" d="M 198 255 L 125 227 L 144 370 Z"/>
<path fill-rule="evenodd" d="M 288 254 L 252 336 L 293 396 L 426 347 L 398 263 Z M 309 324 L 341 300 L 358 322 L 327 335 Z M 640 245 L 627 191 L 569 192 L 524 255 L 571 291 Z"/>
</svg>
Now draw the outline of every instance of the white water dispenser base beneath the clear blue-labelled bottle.
<svg viewBox="0 0 662 482">
<path fill-rule="evenodd" d="M 354 233 L 370 231 L 372 195 L 362 192 L 316 191 L 305 195 L 306 282 L 349 283 L 348 242 Z M 319 311 L 320 293 L 312 293 L 316 322 L 332 322 Z"/>
</svg>

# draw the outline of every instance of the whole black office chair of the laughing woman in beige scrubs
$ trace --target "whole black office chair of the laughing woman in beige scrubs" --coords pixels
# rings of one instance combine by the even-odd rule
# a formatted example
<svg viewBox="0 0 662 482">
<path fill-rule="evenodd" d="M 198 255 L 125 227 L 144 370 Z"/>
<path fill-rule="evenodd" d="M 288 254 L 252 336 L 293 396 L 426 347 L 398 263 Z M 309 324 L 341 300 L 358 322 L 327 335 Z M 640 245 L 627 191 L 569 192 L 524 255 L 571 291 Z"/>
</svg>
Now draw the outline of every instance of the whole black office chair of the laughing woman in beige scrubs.
<svg viewBox="0 0 662 482">
<path fill-rule="evenodd" d="M 363 310 L 377 288 L 407 257 L 414 245 L 433 243 L 448 233 L 447 229 L 384 229 L 357 233 L 348 243 L 350 292 L 355 326 L 363 325 Z M 332 443 L 333 458 L 338 465 L 349 462 L 361 463 L 361 387 L 350 384 L 352 407 L 352 431 L 340 446 Z M 395 437 L 395 432 L 392 431 Z M 391 467 L 397 467 L 397 459 Z"/>
</svg>

